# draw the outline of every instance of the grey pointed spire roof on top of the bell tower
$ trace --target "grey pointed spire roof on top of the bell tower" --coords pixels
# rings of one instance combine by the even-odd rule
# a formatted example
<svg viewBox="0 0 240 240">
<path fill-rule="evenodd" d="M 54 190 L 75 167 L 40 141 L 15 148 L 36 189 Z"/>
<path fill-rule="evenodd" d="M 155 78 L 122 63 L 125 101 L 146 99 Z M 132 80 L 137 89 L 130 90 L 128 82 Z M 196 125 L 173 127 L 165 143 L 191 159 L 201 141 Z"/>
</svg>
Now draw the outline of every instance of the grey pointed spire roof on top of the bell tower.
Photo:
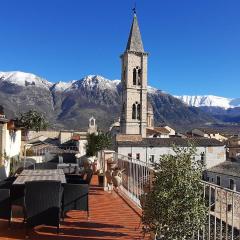
<svg viewBox="0 0 240 240">
<path fill-rule="evenodd" d="M 137 15 L 134 14 L 126 51 L 144 52 L 142 37 L 138 26 Z"/>
</svg>

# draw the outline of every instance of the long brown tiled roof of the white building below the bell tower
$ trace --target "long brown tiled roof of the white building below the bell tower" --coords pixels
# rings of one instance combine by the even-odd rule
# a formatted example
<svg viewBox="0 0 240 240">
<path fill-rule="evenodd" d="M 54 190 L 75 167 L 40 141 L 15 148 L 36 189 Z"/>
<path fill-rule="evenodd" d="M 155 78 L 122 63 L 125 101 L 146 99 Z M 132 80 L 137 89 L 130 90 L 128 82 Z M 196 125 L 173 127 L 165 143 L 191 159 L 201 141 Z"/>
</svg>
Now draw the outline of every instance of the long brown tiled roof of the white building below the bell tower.
<svg viewBox="0 0 240 240">
<path fill-rule="evenodd" d="M 122 141 L 118 142 L 119 147 L 172 147 L 173 145 L 187 147 L 193 143 L 196 147 L 224 146 L 224 143 L 211 138 L 144 138 L 142 141 Z"/>
</svg>

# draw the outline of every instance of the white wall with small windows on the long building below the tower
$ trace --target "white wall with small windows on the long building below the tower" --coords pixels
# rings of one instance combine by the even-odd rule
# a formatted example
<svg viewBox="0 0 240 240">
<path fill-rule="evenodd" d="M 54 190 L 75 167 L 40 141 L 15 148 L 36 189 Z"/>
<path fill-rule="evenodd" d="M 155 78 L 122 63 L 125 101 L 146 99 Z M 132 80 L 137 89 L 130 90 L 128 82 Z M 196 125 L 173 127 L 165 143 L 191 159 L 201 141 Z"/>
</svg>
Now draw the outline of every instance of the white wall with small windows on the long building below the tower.
<svg viewBox="0 0 240 240">
<path fill-rule="evenodd" d="M 226 151 L 224 146 L 217 147 L 197 147 L 196 160 L 201 159 L 201 153 L 205 153 L 206 167 L 210 168 L 219 163 L 226 161 Z M 151 155 L 154 155 L 154 160 L 159 161 L 163 154 L 174 154 L 171 147 L 118 147 L 118 153 L 124 156 L 132 154 L 136 158 L 136 154 L 140 153 L 141 161 L 148 161 Z"/>
</svg>

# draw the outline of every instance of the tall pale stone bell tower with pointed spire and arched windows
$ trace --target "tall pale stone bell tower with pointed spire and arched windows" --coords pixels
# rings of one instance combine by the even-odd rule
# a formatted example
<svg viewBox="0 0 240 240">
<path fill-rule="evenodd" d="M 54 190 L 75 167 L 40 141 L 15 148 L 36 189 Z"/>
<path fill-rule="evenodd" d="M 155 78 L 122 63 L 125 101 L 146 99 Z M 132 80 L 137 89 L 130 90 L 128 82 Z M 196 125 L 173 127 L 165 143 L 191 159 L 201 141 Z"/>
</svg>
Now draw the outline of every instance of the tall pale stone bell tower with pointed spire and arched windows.
<svg viewBox="0 0 240 240">
<path fill-rule="evenodd" d="M 122 60 L 121 134 L 146 137 L 147 127 L 147 60 L 134 11 L 132 27 Z"/>
</svg>

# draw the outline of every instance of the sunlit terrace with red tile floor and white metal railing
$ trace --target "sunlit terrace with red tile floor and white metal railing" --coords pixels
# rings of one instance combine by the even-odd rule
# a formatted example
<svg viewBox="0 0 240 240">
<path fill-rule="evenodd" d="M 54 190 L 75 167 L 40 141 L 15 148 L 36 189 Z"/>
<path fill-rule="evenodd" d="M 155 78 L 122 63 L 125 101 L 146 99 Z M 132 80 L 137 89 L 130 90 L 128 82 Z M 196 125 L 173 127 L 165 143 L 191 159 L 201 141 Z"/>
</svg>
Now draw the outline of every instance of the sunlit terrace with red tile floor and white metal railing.
<svg viewBox="0 0 240 240">
<path fill-rule="evenodd" d="M 141 204 L 146 184 L 151 184 L 152 169 L 149 164 L 109 151 L 99 155 L 99 164 L 104 171 L 111 164 L 122 174 L 122 184 L 113 189 L 105 179 L 105 190 L 98 186 L 98 178 L 92 179 L 89 195 L 90 217 L 86 212 L 70 211 L 56 228 L 38 226 L 29 233 L 31 239 L 149 239 L 143 236 Z M 205 226 L 193 233 L 196 240 L 240 239 L 240 193 L 208 182 L 202 182 L 203 198 L 208 208 Z M 25 239 L 23 218 L 14 208 L 11 228 L 0 220 L 0 240 Z"/>
</svg>

